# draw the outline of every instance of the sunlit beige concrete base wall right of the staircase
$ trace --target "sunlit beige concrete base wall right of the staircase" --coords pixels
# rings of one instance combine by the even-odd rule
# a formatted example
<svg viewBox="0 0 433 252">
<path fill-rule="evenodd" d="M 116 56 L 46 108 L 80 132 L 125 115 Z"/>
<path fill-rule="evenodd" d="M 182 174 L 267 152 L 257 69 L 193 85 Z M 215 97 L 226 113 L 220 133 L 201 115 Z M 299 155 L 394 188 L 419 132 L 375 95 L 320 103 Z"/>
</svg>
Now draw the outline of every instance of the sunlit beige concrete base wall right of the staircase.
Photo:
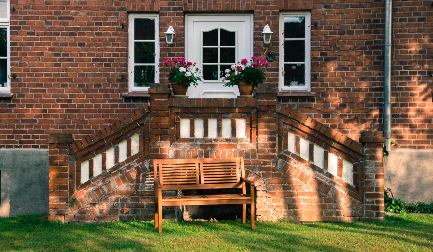
<svg viewBox="0 0 433 252">
<path fill-rule="evenodd" d="M 395 198 L 433 201 L 433 150 L 392 149 L 384 162 L 385 189 Z"/>
</svg>

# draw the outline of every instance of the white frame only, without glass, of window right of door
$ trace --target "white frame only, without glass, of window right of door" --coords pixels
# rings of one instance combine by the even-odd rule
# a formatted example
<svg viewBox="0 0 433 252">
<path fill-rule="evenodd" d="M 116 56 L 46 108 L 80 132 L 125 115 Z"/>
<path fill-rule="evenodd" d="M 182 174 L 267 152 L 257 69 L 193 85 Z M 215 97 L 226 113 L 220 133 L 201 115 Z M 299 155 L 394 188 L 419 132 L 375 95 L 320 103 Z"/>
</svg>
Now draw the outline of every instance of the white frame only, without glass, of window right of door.
<svg viewBox="0 0 433 252">
<path fill-rule="evenodd" d="M 299 63 L 299 62 L 284 62 L 284 17 L 288 16 L 305 16 L 305 86 L 284 86 L 284 63 Z M 311 13 L 310 12 L 286 12 L 280 14 L 280 56 L 279 56 L 279 85 L 278 90 L 281 91 L 310 91 L 311 90 Z M 299 40 L 299 39 L 293 39 Z"/>
</svg>

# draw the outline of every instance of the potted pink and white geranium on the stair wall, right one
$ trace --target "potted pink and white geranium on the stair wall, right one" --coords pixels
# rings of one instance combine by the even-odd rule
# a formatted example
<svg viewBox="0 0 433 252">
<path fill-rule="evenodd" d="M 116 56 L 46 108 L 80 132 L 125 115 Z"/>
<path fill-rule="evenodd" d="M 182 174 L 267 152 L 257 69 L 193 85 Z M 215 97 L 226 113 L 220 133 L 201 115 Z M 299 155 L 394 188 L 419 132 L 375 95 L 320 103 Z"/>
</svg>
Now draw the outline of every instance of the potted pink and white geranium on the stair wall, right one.
<svg viewBox="0 0 433 252">
<path fill-rule="evenodd" d="M 237 66 L 232 65 L 230 69 L 226 69 L 220 81 L 228 81 L 224 84 L 226 87 L 237 85 L 241 96 L 251 96 L 254 87 L 265 79 L 263 68 L 266 66 L 269 66 L 269 63 L 264 59 L 252 56 L 251 65 L 248 65 L 248 60 L 244 58 Z"/>
</svg>

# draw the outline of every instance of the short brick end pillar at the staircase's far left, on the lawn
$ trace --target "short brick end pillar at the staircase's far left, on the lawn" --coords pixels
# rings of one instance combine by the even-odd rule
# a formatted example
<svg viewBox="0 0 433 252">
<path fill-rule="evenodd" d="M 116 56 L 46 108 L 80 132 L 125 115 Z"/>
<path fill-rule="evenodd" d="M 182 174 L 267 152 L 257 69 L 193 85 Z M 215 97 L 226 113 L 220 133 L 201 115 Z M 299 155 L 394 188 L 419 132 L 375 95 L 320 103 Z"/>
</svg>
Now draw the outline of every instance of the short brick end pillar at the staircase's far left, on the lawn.
<svg viewBox="0 0 433 252">
<path fill-rule="evenodd" d="M 49 220 L 65 220 L 69 202 L 68 146 L 72 143 L 71 133 L 48 135 L 49 148 Z"/>
</svg>

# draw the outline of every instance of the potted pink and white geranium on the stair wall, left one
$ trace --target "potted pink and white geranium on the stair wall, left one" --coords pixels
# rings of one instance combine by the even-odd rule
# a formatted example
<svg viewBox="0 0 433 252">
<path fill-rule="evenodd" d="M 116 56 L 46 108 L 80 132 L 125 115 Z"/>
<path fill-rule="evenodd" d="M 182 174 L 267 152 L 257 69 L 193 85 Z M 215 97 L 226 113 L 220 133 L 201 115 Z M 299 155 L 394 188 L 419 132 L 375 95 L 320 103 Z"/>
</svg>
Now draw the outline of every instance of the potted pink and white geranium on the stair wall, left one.
<svg viewBox="0 0 433 252">
<path fill-rule="evenodd" d="M 197 81 L 203 81 L 203 74 L 196 62 L 186 61 L 182 57 L 168 59 L 162 64 L 170 68 L 167 77 L 168 81 L 171 81 L 174 95 L 185 95 L 191 84 L 197 87 Z"/>
</svg>

